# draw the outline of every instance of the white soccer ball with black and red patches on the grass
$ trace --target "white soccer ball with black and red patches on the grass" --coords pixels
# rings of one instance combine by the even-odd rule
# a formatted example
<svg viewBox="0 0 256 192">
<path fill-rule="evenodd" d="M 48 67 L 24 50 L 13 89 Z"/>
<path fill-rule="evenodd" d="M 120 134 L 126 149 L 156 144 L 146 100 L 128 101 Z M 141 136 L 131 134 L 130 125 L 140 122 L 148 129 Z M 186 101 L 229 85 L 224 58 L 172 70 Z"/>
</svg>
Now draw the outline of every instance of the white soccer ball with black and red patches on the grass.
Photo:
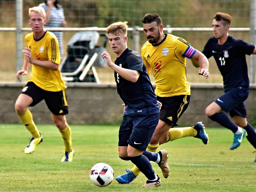
<svg viewBox="0 0 256 192">
<path fill-rule="evenodd" d="M 94 185 L 105 187 L 113 181 L 114 171 L 106 163 L 97 163 L 93 165 L 90 171 L 90 179 Z"/>
</svg>

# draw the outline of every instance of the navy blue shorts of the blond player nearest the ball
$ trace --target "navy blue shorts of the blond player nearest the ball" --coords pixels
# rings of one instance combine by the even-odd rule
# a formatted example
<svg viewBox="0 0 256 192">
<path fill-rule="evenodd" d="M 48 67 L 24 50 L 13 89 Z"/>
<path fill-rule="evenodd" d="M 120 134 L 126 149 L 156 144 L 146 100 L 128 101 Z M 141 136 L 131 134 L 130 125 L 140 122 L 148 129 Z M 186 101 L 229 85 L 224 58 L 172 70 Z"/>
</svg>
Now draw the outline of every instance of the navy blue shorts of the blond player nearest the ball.
<svg viewBox="0 0 256 192">
<path fill-rule="evenodd" d="M 158 124 L 159 113 L 146 116 L 123 116 L 118 134 L 118 146 L 145 151 Z"/>
</svg>

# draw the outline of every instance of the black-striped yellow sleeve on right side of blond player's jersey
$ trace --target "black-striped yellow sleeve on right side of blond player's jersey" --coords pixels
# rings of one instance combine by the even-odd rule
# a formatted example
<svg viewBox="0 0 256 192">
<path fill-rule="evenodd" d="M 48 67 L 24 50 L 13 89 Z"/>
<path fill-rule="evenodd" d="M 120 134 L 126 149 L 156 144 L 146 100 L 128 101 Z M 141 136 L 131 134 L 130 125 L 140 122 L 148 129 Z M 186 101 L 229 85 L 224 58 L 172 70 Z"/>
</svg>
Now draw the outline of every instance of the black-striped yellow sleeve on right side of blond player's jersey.
<svg viewBox="0 0 256 192">
<path fill-rule="evenodd" d="M 48 42 L 48 60 L 60 64 L 60 50 L 57 38 L 51 38 Z"/>
</svg>

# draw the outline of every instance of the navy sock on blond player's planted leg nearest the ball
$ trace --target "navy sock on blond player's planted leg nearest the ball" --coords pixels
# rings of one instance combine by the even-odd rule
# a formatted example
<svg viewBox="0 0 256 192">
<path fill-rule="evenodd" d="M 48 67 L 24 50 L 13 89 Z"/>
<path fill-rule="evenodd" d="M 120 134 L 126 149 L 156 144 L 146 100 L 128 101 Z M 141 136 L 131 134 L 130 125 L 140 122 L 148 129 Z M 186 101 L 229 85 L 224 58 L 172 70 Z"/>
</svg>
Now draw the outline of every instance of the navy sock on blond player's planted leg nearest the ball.
<svg viewBox="0 0 256 192">
<path fill-rule="evenodd" d="M 155 171 L 152 169 L 151 163 L 144 155 L 130 157 L 131 162 L 135 164 L 139 170 L 148 178 L 148 180 L 155 179 Z"/>
</svg>

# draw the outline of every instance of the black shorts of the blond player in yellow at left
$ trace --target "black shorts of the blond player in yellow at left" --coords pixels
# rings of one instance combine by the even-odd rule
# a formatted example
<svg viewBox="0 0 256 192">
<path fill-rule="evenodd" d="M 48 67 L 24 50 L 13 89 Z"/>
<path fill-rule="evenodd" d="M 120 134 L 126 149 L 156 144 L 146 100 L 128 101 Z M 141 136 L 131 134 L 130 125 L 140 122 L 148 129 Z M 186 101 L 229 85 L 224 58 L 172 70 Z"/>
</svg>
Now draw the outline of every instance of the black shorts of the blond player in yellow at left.
<svg viewBox="0 0 256 192">
<path fill-rule="evenodd" d="M 45 91 L 30 81 L 22 89 L 21 93 L 26 94 L 33 99 L 33 102 L 29 107 L 33 107 L 40 101 L 45 100 L 47 107 L 53 115 L 68 114 L 68 102 L 65 89 L 58 92 Z"/>
</svg>

